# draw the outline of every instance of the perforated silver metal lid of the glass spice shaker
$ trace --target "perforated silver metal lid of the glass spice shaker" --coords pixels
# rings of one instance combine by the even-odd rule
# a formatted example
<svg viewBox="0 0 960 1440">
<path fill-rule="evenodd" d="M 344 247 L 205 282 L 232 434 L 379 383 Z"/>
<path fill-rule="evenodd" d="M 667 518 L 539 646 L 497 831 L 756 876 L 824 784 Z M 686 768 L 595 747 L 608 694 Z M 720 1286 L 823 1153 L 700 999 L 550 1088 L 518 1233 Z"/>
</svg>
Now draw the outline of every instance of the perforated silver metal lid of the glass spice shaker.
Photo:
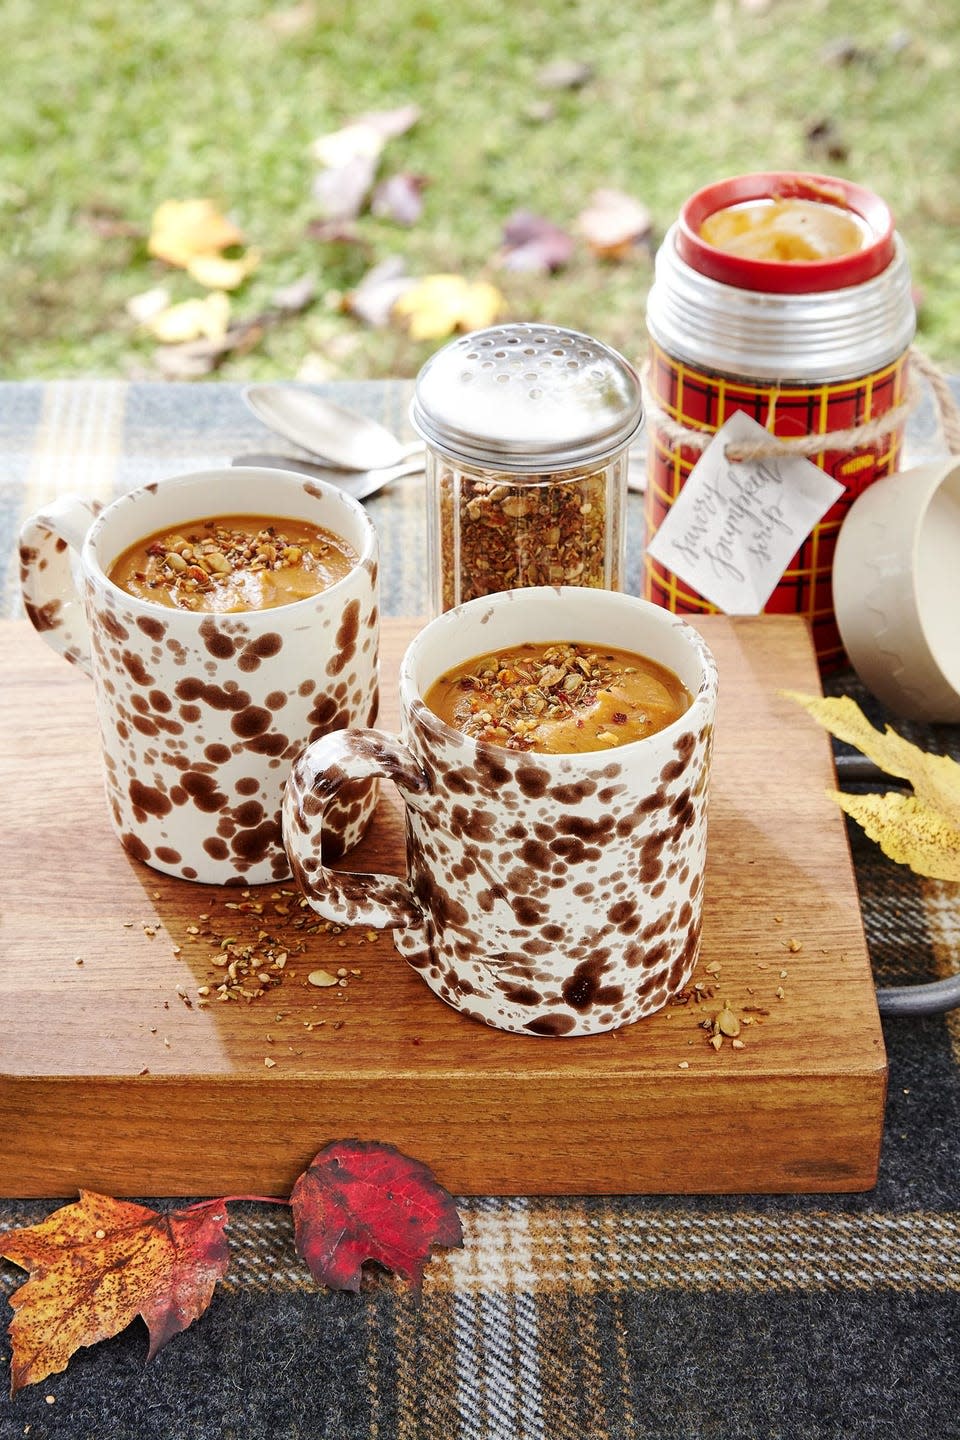
<svg viewBox="0 0 960 1440">
<path fill-rule="evenodd" d="M 599 340 L 557 325 L 475 330 L 432 356 L 410 422 L 453 461 L 512 472 L 600 464 L 643 420 L 640 382 Z"/>
</svg>

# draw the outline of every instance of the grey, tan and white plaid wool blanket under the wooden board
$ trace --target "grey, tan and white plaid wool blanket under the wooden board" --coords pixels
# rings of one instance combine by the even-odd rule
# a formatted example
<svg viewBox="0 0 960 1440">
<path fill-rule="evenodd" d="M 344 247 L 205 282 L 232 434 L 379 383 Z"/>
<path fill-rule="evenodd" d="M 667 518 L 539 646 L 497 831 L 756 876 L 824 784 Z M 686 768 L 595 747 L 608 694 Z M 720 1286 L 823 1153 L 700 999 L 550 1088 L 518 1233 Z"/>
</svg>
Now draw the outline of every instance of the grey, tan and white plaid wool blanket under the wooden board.
<svg viewBox="0 0 960 1440">
<path fill-rule="evenodd" d="M 322 389 L 410 436 L 409 383 Z M 78 490 L 109 500 L 265 449 L 284 445 L 235 384 L 0 384 L 3 615 L 20 613 L 14 543 L 37 505 Z M 937 449 L 928 405 L 908 449 Z M 630 507 L 635 534 L 638 497 Z M 384 612 L 423 613 L 416 485 L 368 510 Z M 829 688 L 879 716 L 853 675 Z M 960 727 L 900 729 L 960 756 Z M 956 887 L 892 865 L 855 827 L 851 845 L 877 982 L 957 973 Z M 0 910 L 3 1025 L 17 1022 L 4 969 L 22 963 Z M 229 1277 L 197 1323 L 148 1365 L 140 1323 L 79 1351 L 63 1374 L 0 1398 L 0 1440 L 960 1437 L 960 1009 L 888 1018 L 884 1034 L 869 1194 L 468 1198 L 463 1248 L 430 1261 L 419 1295 L 371 1272 L 358 1296 L 309 1280 L 285 1211 L 237 1205 Z M 55 1204 L 0 1200 L 0 1228 Z M 0 1261 L 4 1297 L 23 1279 Z M 0 1371 L 9 1354 L 4 1341 Z"/>
</svg>

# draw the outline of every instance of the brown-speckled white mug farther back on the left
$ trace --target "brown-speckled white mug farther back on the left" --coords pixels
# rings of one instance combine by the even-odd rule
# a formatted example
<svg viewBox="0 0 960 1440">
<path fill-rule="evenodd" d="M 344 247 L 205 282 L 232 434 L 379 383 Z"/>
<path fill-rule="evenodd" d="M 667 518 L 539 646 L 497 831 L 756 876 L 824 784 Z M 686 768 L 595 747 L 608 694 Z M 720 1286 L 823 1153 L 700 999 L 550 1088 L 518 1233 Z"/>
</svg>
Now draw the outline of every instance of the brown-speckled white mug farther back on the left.
<svg viewBox="0 0 960 1440">
<path fill-rule="evenodd" d="M 304 520 L 357 564 L 308 599 L 214 615 L 128 595 L 108 579 L 128 546 L 206 516 Z M 105 510 L 66 497 L 20 534 L 26 613 L 92 675 L 114 828 L 137 860 L 187 880 L 261 884 L 289 874 L 281 796 L 291 760 L 377 713 L 377 537 L 341 491 L 278 469 L 176 475 Z M 356 844 L 376 782 L 341 791 L 325 858 Z"/>
</svg>

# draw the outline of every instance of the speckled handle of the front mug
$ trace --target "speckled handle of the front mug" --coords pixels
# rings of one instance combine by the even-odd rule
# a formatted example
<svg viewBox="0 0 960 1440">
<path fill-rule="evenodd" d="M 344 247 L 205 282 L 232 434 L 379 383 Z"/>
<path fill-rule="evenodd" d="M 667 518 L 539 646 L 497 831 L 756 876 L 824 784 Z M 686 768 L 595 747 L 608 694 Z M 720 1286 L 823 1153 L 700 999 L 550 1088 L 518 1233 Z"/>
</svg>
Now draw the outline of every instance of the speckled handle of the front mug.
<svg viewBox="0 0 960 1440">
<path fill-rule="evenodd" d="M 406 880 L 330 870 L 321 861 L 327 809 L 344 786 L 370 779 L 393 780 L 404 802 L 429 789 L 419 760 L 386 730 L 332 730 L 301 750 L 284 788 L 284 844 L 294 878 L 312 909 L 340 924 L 422 924 L 423 912 Z"/>
</svg>

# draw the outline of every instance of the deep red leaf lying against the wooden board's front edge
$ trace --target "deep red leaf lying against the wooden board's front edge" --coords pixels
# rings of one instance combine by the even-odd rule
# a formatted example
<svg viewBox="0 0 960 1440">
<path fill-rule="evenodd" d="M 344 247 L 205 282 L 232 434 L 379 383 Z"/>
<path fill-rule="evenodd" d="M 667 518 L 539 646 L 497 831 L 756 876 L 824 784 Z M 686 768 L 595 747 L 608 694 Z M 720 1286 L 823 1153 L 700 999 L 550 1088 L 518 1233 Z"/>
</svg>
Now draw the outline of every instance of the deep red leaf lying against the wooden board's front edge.
<svg viewBox="0 0 960 1440">
<path fill-rule="evenodd" d="M 334 1290 L 358 1290 L 366 1260 L 413 1284 L 433 1246 L 463 1244 L 452 1197 L 420 1161 L 376 1140 L 337 1140 L 291 1194 L 296 1253 Z"/>
</svg>

